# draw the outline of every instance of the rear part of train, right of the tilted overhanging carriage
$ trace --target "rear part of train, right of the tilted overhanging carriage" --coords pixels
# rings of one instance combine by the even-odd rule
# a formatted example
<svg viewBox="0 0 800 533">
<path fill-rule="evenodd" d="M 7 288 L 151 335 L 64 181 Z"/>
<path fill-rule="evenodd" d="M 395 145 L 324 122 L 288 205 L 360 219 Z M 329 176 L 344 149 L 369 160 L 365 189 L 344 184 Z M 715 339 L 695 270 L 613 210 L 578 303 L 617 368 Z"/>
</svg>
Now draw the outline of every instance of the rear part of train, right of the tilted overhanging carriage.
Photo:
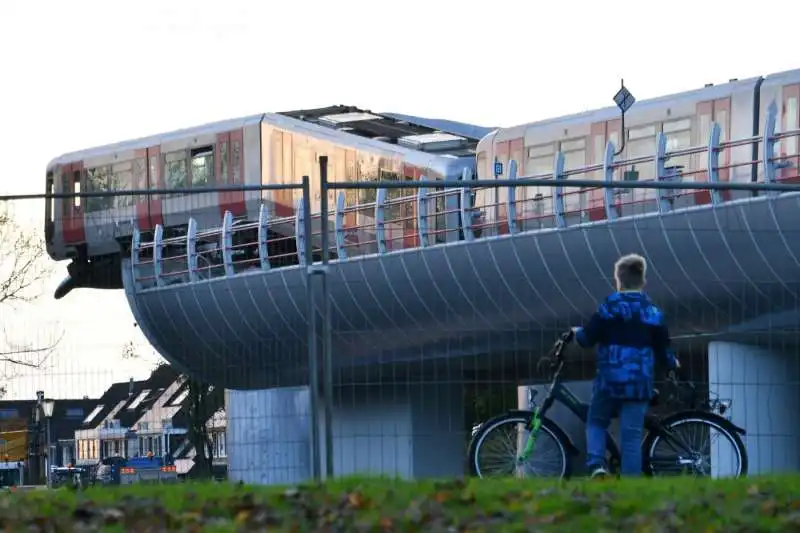
<svg viewBox="0 0 800 533">
<path fill-rule="evenodd" d="M 663 96 L 638 102 L 625 117 L 625 143 L 621 141 L 622 127 L 616 107 L 579 113 L 520 126 L 502 128 L 484 137 L 478 145 L 478 177 L 494 177 L 493 163 L 503 164 L 508 177 L 508 162 L 518 165 L 518 176 L 551 177 L 555 154 L 564 156 L 567 178 L 601 179 L 600 170 L 581 174 L 574 172 L 603 163 L 606 144 L 611 141 L 620 150 L 618 159 L 652 158 L 656 153 L 659 133 L 666 137 L 667 176 L 683 181 L 707 181 L 707 160 L 701 155 L 681 151 L 709 141 L 711 126 L 720 127 L 720 141 L 742 139 L 762 131 L 767 106 L 775 101 L 783 131 L 797 129 L 800 97 L 800 70 L 767 77 L 730 80 L 720 85 Z M 720 153 L 721 181 L 754 181 L 761 178 L 758 146 L 730 147 Z M 671 153 L 671 155 L 670 155 Z M 797 147 L 794 139 L 778 145 L 777 153 L 784 158 L 781 179 L 797 179 Z M 570 172 L 573 171 L 573 172 Z M 653 180 L 652 161 L 630 164 L 615 170 L 614 179 Z M 749 193 L 723 192 L 732 198 Z M 506 189 L 481 189 L 476 204 L 484 212 L 485 233 L 508 232 Z M 682 190 L 670 193 L 673 207 L 703 205 L 711 201 L 708 191 Z M 615 192 L 617 214 L 653 212 L 657 210 L 655 191 L 629 189 Z M 602 188 L 565 188 L 565 215 L 568 223 L 589 222 L 605 218 Z M 520 230 L 555 225 L 553 189 L 550 187 L 521 187 L 516 193 L 516 215 Z"/>
</svg>

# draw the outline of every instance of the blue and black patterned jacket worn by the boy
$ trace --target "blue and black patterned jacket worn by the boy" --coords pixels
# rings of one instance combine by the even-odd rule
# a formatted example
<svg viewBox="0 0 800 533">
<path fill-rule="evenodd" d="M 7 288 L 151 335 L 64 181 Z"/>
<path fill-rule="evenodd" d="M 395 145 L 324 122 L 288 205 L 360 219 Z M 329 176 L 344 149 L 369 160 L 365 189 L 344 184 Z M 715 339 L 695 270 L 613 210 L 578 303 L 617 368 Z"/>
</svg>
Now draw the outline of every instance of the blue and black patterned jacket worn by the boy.
<svg viewBox="0 0 800 533">
<path fill-rule="evenodd" d="M 595 392 L 622 400 L 653 397 L 655 358 L 675 368 L 664 314 L 642 292 L 615 292 L 606 298 L 575 340 L 597 345 Z"/>
</svg>

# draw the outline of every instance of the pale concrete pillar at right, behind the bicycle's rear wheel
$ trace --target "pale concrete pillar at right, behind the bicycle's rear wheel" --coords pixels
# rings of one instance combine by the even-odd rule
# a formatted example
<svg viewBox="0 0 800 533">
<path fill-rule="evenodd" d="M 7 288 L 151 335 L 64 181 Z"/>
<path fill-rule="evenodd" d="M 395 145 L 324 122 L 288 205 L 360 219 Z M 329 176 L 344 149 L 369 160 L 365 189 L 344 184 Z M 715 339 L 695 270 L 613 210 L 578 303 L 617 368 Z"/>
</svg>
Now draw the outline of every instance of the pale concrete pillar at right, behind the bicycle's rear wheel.
<svg viewBox="0 0 800 533">
<path fill-rule="evenodd" d="M 794 353 L 712 342 L 709 390 L 731 400 L 731 421 L 747 430 L 750 474 L 800 470 L 800 360 Z M 712 446 L 712 473 L 731 468 L 729 446 Z M 715 464 L 716 463 L 716 464 Z"/>
</svg>

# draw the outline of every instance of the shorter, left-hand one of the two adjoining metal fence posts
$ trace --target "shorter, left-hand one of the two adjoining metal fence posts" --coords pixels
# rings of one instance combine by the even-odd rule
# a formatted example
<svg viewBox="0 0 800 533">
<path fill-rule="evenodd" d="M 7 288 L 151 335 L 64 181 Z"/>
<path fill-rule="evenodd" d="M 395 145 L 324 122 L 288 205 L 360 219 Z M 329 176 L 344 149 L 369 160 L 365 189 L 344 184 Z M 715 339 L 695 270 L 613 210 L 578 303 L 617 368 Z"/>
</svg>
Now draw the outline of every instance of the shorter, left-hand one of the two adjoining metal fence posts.
<svg viewBox="0 0 800 533">
<path fill-rule="evenodd" d="M 303 212 L 311 211 L 311 185 L 308 176 L 303 176 L 303 197 L 297 202 L 297 217 L 295 218 L 295 238 L 297 240 L 297 253 L 303 257 L 313 257 L 313 248 L 310 238 L 311 217 L 303 217 Z M 302 235 L 301 235 L 302 234 Z M 302 246 L 301 246 L 302 245 Z M 301 261 L 305 265 L 305 259 Z M 322 476 L 320 468 L 320 440 L 319 440 L 319 358 L 317 355 L 317 305 L 314 298 L 314 273 L 306 267 L 306 298 L 308 314 L 308 393 L 309 393 L 309 420 L 311 424 L 311 477 L 319 481 Z"/>
</svg>

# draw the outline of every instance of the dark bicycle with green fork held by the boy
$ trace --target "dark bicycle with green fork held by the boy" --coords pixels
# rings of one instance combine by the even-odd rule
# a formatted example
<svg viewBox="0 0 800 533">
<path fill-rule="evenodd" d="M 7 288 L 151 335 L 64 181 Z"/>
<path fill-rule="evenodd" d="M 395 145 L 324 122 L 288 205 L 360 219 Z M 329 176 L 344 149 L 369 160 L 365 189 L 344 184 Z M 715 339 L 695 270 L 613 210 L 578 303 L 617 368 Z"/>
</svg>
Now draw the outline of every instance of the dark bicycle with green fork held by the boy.
<svg viewBox="0 0 800 533">
<path fill-rule="evenodd" d="M 569 388 L 562 383 L 561 371 L 564 368 L 563 352 L 567 344 L 572 341 L 573 332 L 569 331 L 562 334 L 548 356 L 548 359 L 555 359 L 551 365 L 552 382 L 547 397 L 541 406 L 536 406 L 536 391 L 529 392 L 529 403 L 531 410 L 511 410 L 505 414 L 496 416 L 483 423 L 474 432 L 469 446 L 469 464 L 472 475 L 478 477 L 488 477 L 491 474 L 486 467 L 482 466 L 481 460 L 483 453 L 488 447 L 489 437 L 494 437 L 500 430 L 510 426 L 514 441 L 511 442 L 511 460 L 508 465 L 500 470 L 499 475 L 524 475 L 524 469 L 529 467 L 529 460 L 542 459 L 546 455 L 548 443 L 553 445 L 552 451 L 560 460 L 558 466 L 552 471 L 552 475 L 560 478 L 568 478 L 572 473 L 570 459 L 579 454 L 578 449 L 572 443 L 569 436 L 552 420 L 547 418 L 547 412 L 555 402 L 560 402 L 583 423 L 586 423 L 589 404 L 579 400 Z M 670 379 L 677 384 L 677 378 L 671 373 Z M 659 403 L 659 392 L 656 391 L 651 406 Z M 725 409 L 729 406 L 724 402 L 715 401 L 711 404 L 706 403 L 711 409 L 720 412 L 712 412 L 697 407 L 681 409 L 666 416 L 647 414 L 645 418 L 645 435 L 642 440 L 642 468 L 645 475 L 660 476 L 670 474 L 689 473 L 697 476 L 720 476 L 732 475 L 740 477 L 747 475 L 748 456 L 742 435 L 746 432 L 724 416 Z M 708 451 L 700 453 L 687 444 L 679 433 L 684 429 L 701 429 L 703 435 L 708 435 L 701 439 L 701 444 L 708 445 Z M 520 431 L 521 430 L 521 431 Z M 733 451 L 727 455 L 720 454 L 717 450 L 717 457 L 714 463 L 711 461 L 711 432 L 716 432 L 732 445 Z M 524 434 L 527 433 L 527 436 Z M 707 442 L 708 441 L 708 442 Z M 621 454 L 616 440 L 606 432 L 606 447 L 608 454 L 608 464 L 612 473 L 619 471 Z M 662 451 L 662 447 L 667 448 Z M 519 453 L 519 450 L 522 452 Z M 536 452 L 534 454 L 534 451 Z M 724 459 L 731 460 L 731 464 L 720 464 Z M 545 474 L 546 475 L 546 474 Z"/>
</svg>

